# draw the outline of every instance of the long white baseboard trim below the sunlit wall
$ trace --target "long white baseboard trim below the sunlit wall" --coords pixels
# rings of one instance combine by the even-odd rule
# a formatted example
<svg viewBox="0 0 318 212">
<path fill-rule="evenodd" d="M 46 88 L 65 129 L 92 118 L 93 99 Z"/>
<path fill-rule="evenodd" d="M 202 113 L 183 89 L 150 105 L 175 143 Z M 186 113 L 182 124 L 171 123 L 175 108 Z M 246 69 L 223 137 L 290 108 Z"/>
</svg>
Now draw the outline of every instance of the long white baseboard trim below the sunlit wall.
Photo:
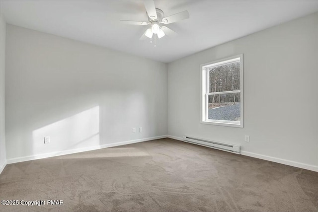
<svg viewBox="0 0 318 212">
<path fill-rule="evenodd" d="M 108 148 L 108 147 L 126 145 L 126 144 L 131 144 L 131 143 L 139 143 L 139 142 L 143 142 L 143 141 L 152 141 L 152 140 L 164 139 L 164 138 L 167 138 L 167 136 L 166 135 L 156 136 L 156 137 L 150 137 L 150 138 L 145 138 L 145 139 L 122 141 L 122 142 L 116 142 L 116 143 L 106 143 L 106 144 L 102 144 L 102 145 L 89 146 L 89 147 L 77 148 L 77 149 L 68 149 L 68 150 L 64 150 L 64 151 L 56 151 L 56 152 L 50 152 L 50 153 L 45 153 L 45 154 L 29 155 L 29 156 L 25 156 L 25 157 L 15 157 L 15 158 L 6 159 L 6 164 L 18 163 L 18 162 L 24 162 L 24 161 L 28 161 L 28 160 L 36 160 L 36 159 L 42 159 L 42 158 L 48 158 L 48 157 L 55 157 L 55 156 L 66 155 L 66 154 L 74 154 L 74 153 L 79 153 L 79 152 L 84 152 L 84 151 L 91 151 L 91 150 L 96 150 L 96 149 L 101 149 L 101 148 Z"/>
</svg>

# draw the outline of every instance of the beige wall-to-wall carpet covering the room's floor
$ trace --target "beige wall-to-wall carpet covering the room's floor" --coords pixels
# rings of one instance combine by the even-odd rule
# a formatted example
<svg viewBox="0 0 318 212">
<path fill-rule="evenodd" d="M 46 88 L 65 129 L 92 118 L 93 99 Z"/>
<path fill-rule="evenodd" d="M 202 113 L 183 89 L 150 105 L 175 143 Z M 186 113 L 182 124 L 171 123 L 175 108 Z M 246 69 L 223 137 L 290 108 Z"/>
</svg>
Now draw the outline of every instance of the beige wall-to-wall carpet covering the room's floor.
<svg viewBox="0 0 318 212">
<path fill-rule="evenodd" d="M 1 212 L 317 212 L 318 172 L 171 139 L 7 165 Z"/>
</svg>

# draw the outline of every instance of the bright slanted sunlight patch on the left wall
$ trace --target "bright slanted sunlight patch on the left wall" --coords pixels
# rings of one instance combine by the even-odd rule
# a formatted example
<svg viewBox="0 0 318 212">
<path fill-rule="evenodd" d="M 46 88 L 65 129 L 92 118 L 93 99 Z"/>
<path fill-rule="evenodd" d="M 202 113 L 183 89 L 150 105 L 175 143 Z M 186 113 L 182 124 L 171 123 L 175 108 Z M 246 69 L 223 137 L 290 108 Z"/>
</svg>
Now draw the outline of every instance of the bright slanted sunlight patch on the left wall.
<svg viewBox="0 0 318 212">
<path fill-rule="evenodd" d="M 44 143 L 44 137 L 50 143 Z M 63 151 L 99 145 L 99 106 L 32 132 L 33 153 Z"/>
</svg>

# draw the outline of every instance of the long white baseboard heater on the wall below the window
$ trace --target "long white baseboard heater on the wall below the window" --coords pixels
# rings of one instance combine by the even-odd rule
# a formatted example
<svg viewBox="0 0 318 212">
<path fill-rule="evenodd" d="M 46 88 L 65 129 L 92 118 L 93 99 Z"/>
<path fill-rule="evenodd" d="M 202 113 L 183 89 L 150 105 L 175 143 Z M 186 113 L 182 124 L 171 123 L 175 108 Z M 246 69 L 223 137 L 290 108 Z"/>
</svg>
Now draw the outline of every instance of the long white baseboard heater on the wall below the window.
<svg viewBox="0 0 318 212">
<path fill-rule="evenodd" d="M 199 139 L 199 138 L 193 138 L 193 137 L 188 137 L 188 136 L 184 136 L 183 141 L 188 142 L 188 143 L 198 144 L 201 146 L 210 147 L 210 148 L 215 148 L 215 149 L 219 149 L 219 150 L 223 150 L 223 151 L 228 151 L 228 152 L 232 152 L 232 153 L 236 153 L 236 154 L 240 154 L 240 146 L 235 145 L 235 144 L 221 143 L 221 142 L 217 142 L 217 141 L 210 141 L 210 140 L 206 140 L 206 139 Z"/>
</svg>

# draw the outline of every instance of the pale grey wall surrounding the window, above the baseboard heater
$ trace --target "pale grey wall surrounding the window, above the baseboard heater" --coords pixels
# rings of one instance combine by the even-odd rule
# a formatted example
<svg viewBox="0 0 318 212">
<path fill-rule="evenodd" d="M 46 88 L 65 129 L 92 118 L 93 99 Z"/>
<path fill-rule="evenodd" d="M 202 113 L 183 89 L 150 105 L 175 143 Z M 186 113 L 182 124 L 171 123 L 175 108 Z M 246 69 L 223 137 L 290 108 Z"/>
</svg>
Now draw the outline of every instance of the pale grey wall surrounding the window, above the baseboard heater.
<svg viewBox="0 0 318 212">
<path fill-rule="evenodd" d="M 318 171 L 317 26 L 315 13 L 169 63 L 168 135 L 238 143 L 244 154 Z M 200 124 L 200 64 L 238 54 L 244 128 Z"/>
</svg>

